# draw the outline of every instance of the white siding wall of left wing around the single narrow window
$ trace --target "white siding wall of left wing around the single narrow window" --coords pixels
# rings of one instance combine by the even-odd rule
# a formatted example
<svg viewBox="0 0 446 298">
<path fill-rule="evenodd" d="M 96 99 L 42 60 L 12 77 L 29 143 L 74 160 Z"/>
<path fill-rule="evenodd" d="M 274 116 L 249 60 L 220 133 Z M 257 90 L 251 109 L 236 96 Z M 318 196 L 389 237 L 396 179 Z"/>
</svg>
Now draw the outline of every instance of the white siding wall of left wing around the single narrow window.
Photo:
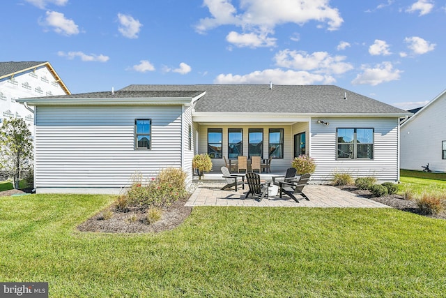
<svg viewBox="0 0 446 298">
<path fill-rule="evenodd" d="M 134 149 L 134 119 L 152 119 L 151 150 Z M 181 167 L 181 107 L 37 107 L 37 188 L 121 188 L 140 171 Z"/>
</svg>

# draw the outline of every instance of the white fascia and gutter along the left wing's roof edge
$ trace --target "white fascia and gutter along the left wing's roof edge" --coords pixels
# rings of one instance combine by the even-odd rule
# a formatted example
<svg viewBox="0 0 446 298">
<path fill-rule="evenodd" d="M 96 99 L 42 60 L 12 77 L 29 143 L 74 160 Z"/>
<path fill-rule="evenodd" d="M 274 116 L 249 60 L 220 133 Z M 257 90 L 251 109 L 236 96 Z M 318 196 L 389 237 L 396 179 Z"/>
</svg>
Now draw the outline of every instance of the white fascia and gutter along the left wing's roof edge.
<svg viewBox="0 0 446 298">
<path fill-rule="evenodd" d="M 20 98 L 27 105 L 190 105 L 190 97 L 160 98 Z"/>
</svg>

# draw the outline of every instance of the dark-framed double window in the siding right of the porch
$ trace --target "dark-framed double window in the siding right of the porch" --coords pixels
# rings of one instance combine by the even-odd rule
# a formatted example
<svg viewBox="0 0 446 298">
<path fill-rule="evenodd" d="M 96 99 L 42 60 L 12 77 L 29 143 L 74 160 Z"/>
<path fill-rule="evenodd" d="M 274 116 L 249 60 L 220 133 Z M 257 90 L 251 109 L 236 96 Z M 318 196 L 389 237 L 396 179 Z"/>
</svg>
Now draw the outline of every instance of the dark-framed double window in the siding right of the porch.
<svg viewBox="0 0 446 298">
<path fill-rule="evenodd" d="M 337 128 L 337 158 L 373 159 L 374 128 Z"/>
</svg>

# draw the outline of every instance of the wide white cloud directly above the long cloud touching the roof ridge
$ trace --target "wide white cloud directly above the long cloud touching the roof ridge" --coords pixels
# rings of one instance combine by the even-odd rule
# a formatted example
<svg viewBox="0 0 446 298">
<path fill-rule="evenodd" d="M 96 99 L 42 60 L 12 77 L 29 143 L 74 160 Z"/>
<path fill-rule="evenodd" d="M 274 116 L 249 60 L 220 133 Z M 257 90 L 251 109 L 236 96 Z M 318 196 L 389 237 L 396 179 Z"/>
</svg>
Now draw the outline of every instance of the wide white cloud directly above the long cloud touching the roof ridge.
<svg viewBox="0 0 446 298">
<path fill-rule="evenodd" d="M 353 69 L 351 64 L 344 62 L 345 56 L 330 56 L 328 52 L 279 51 L 275 57 L 277 66 L 295 70 L 313 70 L 315 73 L 341 74 Z"/>
</svg>

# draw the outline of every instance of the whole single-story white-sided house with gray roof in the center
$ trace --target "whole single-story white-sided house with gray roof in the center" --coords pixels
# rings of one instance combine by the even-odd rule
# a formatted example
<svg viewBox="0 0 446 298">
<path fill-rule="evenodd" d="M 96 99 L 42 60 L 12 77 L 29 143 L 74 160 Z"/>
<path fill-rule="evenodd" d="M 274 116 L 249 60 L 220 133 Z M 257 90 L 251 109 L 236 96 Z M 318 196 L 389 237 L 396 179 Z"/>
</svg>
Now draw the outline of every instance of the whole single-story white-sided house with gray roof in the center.
<svg viewBox="0 0 446 298">
<path fill-rule="evenodd" d="M 313 183 L 334 172 L 399 180 L 399 121 L 410 113 L 336 86 L 130 85 L 18 100 L 36 106 L 36 191 L 118 193 L 140 171 L 194 154 L 272 155 L 272 172 L 309 154 Z"/>
</svg>

